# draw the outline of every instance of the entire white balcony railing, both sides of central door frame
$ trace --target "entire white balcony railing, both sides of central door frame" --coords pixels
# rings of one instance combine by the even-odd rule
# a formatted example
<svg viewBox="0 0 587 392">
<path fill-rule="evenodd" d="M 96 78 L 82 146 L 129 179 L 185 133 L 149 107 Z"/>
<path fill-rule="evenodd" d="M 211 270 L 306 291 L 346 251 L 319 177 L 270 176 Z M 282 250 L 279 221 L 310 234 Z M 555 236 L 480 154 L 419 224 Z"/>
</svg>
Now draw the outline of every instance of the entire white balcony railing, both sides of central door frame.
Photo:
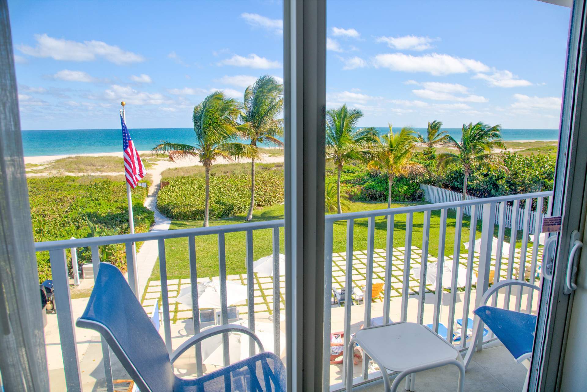
<svg viewBox="0 0 587 392">
<path fill-rule="evenodd" d="M 383 252 L 385 257 L 380 257 L 380 259 L 384 259 L 384 293 L 383 293 L 383 308 L 382 308 L 382 316 L 384 320 L 389 319 L 390 316 L 393 316 L 394 321 L 399 320 L 407 320 L 408 319 L 408 307 L 409 307 L 409 299 L 411 299 L 410 303 L 413 303 L 414 296 L 418 296 L 420 293 L 426 292 L 442 292 L 442 266 L 445 260 L 452 259 L 453 263 L 453 271 L 458 271 L 456 268 L 457 263 L 460 261 L 461 256 L 461 229 L 463 227 L 463 209 L 470 208 L 471 209 L 471 218 L 470 218 L 470 234 L 469 234 L 469 243 L 473 244 L 475 241 L 476 236 L 476 229 L 477 229 L 477 212 L 481 211 L 481 217 L 483 220 L 482 230 L 481 230 L 481 252 L 478 254 L 478 263 L 476 261 L 476 256 L 474 252 L 468 252 L 466 261 L 466 270 L 467 270 L 467 283 L 464 286 L 464 292 L 459 292 L 457 290 L 457 273 L 453 273 L 452 277 L 452 285 L 450 287 L 450 304 L 448 310 L 448 332 L 447 332 L 447 340 L 453 343 L 453 325 L 456 319 L 456 312 L 457 312 L 457 293 L 462 297 L 463 307 L 462 307 L 462 315 L 463 319 L 466 320 L 468 317 L 471 317 L 471 311 L 477 306 L 478 300 L 481 299 L 480 295 L 472 295 L 474 290 L 481 290 L 482 292 L 487 289 L 488 284 L 498 282 L 500 279 L 510 279 L 514 274 L 514 264 L 516 260 L 519 260 L 517 269 L 518 269 L 518 279 L 526 279 L 526 275 L 524 272 L 526 271 L 526 260 L 527 260 L 527 252 L 528 252 L 528 234 L 529 234 L 529 212 L 531 212 L 532 200 L 537 199 L 537 210 L 542 210 L 544 206 L 545 199 L 552 196 L 552 192 L 540 192 L 540 193 L 529 193 L 526 195 L 513 195 L 513 196 L 503 196 L 503 197 L 492 197 L 488 199 L 475 199 L 475 200 L 466 200 L 464 202 L 448 202 L 448 203 L 439 203 L 439 204 L 431 204 L 431 205 L 418 205 L 418 206 L 410 206 L 410 207 L 401 207 L 396 209 L 389 209 L 389 210 L 372 210 L 367 212 L 354 212 L 354 213 L 343 213 L 338 215 L 327 215 L 326 216 L 326 233 L 325 233 L 325 297 L 324 301 L 324 310 L 325 310 L 325 317 L 324 317 L 324 350 L 323 350 L 323 374 L 324 374 L 324 383 L 323 387 L 325 391 L 328 390 L 337 390 L 342 388 L 342 380 L 344 377 L 338 381 L 332 381 L 330 377 L 330 331 L 332 326 L 332 279 L 333 279 L 333 228 L 336 222 L 346 221 L 346 272 L 344 274 L 344 280 L 346 287 L 353 286 L 353 250 L 355 249 L 354 243 L 354 236 L 353 236 L 353 228 L 355 227 L 355 221 L 358 219 L 366 219 L 367 220 L 367 240 L 366 240 L 366 273 L 365 273 L 365 299 L 364 299 L 364 309 L 363 309 L 363 324 L 365 326 L 370 325 L 370 320 L 372 317 L 375 317 L 372 309 L 374 304 L 372 304 L 372 292 L 371 287 L 373 283 L 373 274 L 374 274 L 374 253 L 375 253 L 375 219 L 376 217 L 387 217 L 387 229 L 385 230 L 386 235 L 386 249 L 378 250 L 378 252 Z M 523 222 L 522 222 L 522 240 L 521 240 L 521 249 L 519 250 L 519 255 L 515 250 L 515 246 L 510 247 L 510 252 L 507 256 L 502 257 L 501 250 L 502 244 L 504 244 L 504 234 L 505 234 L 505 208 L 504 206 L 507 205 L 507 202 L 513 202 L 514 206 L 519 206 L 519 200 L 525 199 L 525 209 L 523 214 Z M 456 222 L 455 222 L 455 230 L 454 230 L 454 244 L 446 244 L 446 234 L 447 234 L 447 216 L 449 209 L 456 209 Z M 429 261 L 429 244 L 430 244 L 430 222 L 431 222 L 431 214 L 434 211 L 440 211 L 440 225 L 438 229 L 438 256 L 437 256 L 437 265 L 440 266 L 440 273 L 437 276 L 437 285 L 436 287 L 426 287 L 426 265 Z M 423 240 L 421 244 L 420 252 L 418 253 L 419 260 L 414 259 L 414 253 L 412 252 L 413 249 L 416 247 L 413 246 L 413 222 L 414 222 L 414 214 L 423 214 Z M 403 261 L 399 263 L 400 265 L 396 265 L 398 263 L 394 262 L 394 255 L 393 255 L 393 242 L 394 242 L 394 217 L 399 215 L 405 215 L 405 238 L 404 238 L 404 249 L 403 249 Z M 496 220 L 497 215 L 497 220 Z M 542 215 L 538 214 L 538 219 L 535 219 L 533 222 L 534 225 L 534 232 L 540 232 L 540 227 L 542 224 Z M 489 218 L 489 219 L 486 219 Z M 497 229 L 497 252 L 498 255 L 495 257 L 495 260 L 492 261 L 492 236 L 494 235 L 495 230 L 495 222 L 497 222 L 498 229 Z M 403 224 L 403 220 L 402 220 Z M 50 264 L 52 269 L 53 275 L 53 287 L 55 290 L 55 301 L 56 301 L 56 310 L 57 310 L 57 319 L 58 319 L 58 329 L 59 329 L 59 336 L 60 336 L 60 346 L 63 356 L 63 368 L 65 370 L 65 381 L 67 390 L 70 391 L 82 391 L 82 381 L 80 378 L 80 366 L 79 366 L 79 358 L 76 351 L 76 336 L 75 336 L 75 327 L 74 323 L 75 320 L 72 314 L 72 304 L 70 300 L 70 291 L 69 291 L 69 273 L 68 273 L 68 263 L 66 258 L 66 249 L 70 249 L 73 247 L 80 248 L 80 247 L 89 247 L 92 252 L 92 262 L 94 269 L 97 270 L 99 267 L 99 246 L 106 245 L 106 244 L 120 244 L 123 243 L 126 246 L 126 258 L 127 258 L 127 268 L 128 268 L 128 276 L 129 276 L 129 285 L 133 292 L 136 294 L 137 298 L 141 298 L 143 293 L 139 292 L 139 284 L 137 282 L 137 266 L 136 262 L 133 257 L 132 246 L 133 242 L 140 242 L 140 241 L 149 241 L 149 240 L 157 240 L 158 242 L 158 254 L 159 254 L 159 266 L 160 266 L 160 276 L 161 276 L 161 294 L 162 298 L 162 306 L 163 306 L 163 329 L 164 329 L 164 340 L 167 345 L 168 351 L 171 352 L 171 329 L 170 329 L 170 309 L 169 309 L 169 300 L 168 300 L 168 290 L 167 290 L 167 263 L 166 263 L 166 250 L 165 250 L 165 240 L 172 239 L 172 238 L 180 238 L 185 237 L 188 240 L 188 249 L 189 249 L 189 266 L 190 266 L 190 279 L 191 282 L 197 282 L 198 279 L 198 269 L 197 269 L 197 259 L 195 254 L 195 241 L 197 240 L 196 237 L 204 236 L 204 235 L 216 235 L 218 236 L 218 266 L 219 266 L 219 280 L 220 280 L 220 287 L 221 287 L 221 323 L 227 324 L 228 323 L 228 304 L 227 304 L 227 292 L 226 292 L 226 282 L 227 282 L 227 266 L 226 266 L 226 255 L 225 255 L 225 234 L 226 233 L 234 233 L 234 232 L 245 232 L 246 233 L 246 267 L 247 267 L 247 290 L 248 290 L 248 299 L 247 299 L 247 316 L 248 316 L 248 326 L 252 330 L 255 329 L 255 305 L 254 305 L 254 273 L 253 273 L 253 232 L 255 230 L 266 230 L 271 229 L 271 242 L 272 242 L 272 254 L 274 255 L 274 272 L 273 272 L 273 287 L 272 287 L 272 313 L 273 313 L 273 326 L 274 326 L 274 351 L 276 353 L 281 353 L 279 349 L 281 347 L 281 342 L 279 341 L 280 337 L 280 317 L 279 317 L 279 309 L 280 309 L 280 288 L 279 288 L 279 230 L 281 227 L 284 226 L 284 220 L 272 220 L 267 222 L 254 222 L 254 223 L 242 223 L 237 225 L 224 225 L 224 226 L 212 226 L 212 227 L 198 227 L 195 229 L 182 229 L 182 230 L 168 230 L 168 231 L 161 231 L 161 232 L 149 232 L 149 233 L 141 233 L 141 234 L 125 234 L 119 236 L 108 236 L 108 237 L 92 237 L 92 238 L 85 238 L 85 239 L 72 239 L 72 240 L 60 240 L 60 241 L 53 241 L 53 242 L 41 242 L 36 243 L 35 248 L 37 252 L 40 251 L 49 251 L 50 256 Z M 512 238 L 517 238 L 518 230 L 517 225 L 514 225 L 514 228 L 511 229 L 511 236 Z M 379 233 L 379 232 L 378 232 Z M 446 245 L 453 246 L 452 257 L 446 256 L 449 253 L 446 250 Z M 473 247 L 470 247 L 473 249 Z M 532 245 L 532 249 L 530 250 L 531 256 L 529 259 L 529 281 L 531 283 L 536 282 L 536 272 L 537 272 L 537 261 L 538 261 L 538 253 L 539 253 L 539 244 L 538 241 L 534 242 Z M 397 259 L 397 257 L 396 257 Z M 420 264 L 420 276 L 417 279 L 413 279 L 410 277 L 410 264 Z M 399 286 L 393 287 L 392 290 L 392 270 L 396 267 L 401 267 L 403 269 L 402 279 L 400 282 L 397 282 Z M 478 279 L 477 284 L 473 284 L 473 272 L 474 269 L 477 269 L 478 272 Z M 494 280 L 490 282 L 490 270 L 498 271 L 500 273 L 494 274 Z M 414 289 L 414 286 L 410 288 L 410 280 L 412 282 L 417 282 L 418 287 Z M 198 333 L 200 331 L 200 318 L 199 318 L 199 311 L 200 308 L 198 307 L 198 293 L 197 293 L 197 284 L 191 285 L 191 294 L 192 294 L 192 302 L 193 302 L 193 310 L 192 310 L 192 317 L 194 322 L 194 333 Z M 399 307 L 399 311 L 393 313 L 390 309 L 390 303 L 392 303 L 392 291 L 397 294 L 398 300 L 401 301 L 401 305 Z M 399 294 L 398 294 L 399 293 Z M 285 294 L 285 293 L 281 293 Z M 521 309 L 521 293 L 517 293 L 517 300 L 516 300 L 516 309 Z M 348 306 L 344 307 L 344 314 L 343 314 L 343 322 L 342 326 L 345 334 L 344 334 L 344 343 L 345 347 L 348 346 L 348 342 L 350 340 L 350 333 L 351 333 L 351 311 L 353 306 L 350 306 L 352 303 L 351 298 L 351 290 L 346 290 L 346 301 L 345 303 Z M 425 314 L 424 314 L 424 307 L 426 306 L 426 299 L 425 296 L 418 296 L 417 299 L 417 310 L 414 314 L 416 314 L 416 320 L 419 323 L 424 323 Z M 509 297 L 508 297 L 509 298 Z M 441 311 L 441 301 L 442 296 L 436 296 L 433 303 L 433 317 L 432 317 L 432 324 L 433 329 L 438 331 L 438 325 L 440 323 L 440 311 Z M 472 303 L 474 301 L 474 303 Z M 532 299 L 528 299 L 528 303 L 531 304 Z M 527 306 L 529 309 L 531 306 Z M 359 308 L 359 307 L 356 307 Z M 360 309 L 360 308 L 359 308 Z M 460 315 L 460 308 L 459 314 Z M 410 313 L 411 314 L 411 313 Z M 287 321 L 287 320 L 286 320 Z M 229 359 L 227 341 L 223 342 L 224 344 L 224 361 L 227 363 Z M 467 348 L 466 339 L 461 339 L 460 343 L 461 349 Z M 112 365 L 110 363 L 110 354 L 109 350 L 107 349 L 106 343 L 102 341 L 102 353 L 103 353 L 103 364 L 104 364 L 104 374 L 106 375 L 106 389 L 109 391 L 113 390 L 113 382 L 112 382 Z M 346 355 L 344 356 L 344 360 L 346 360 Z M 197 375 L 203 373 L 203 365 L 201 359 L 201 353 L 196 349 L 195 351 L 195 361 L 196 361 L 196 368 L 197 368 Z M 342 369 L 345 367 L 343 366 Z M 380 374 L 379 374 L 380 376 Z M 362 364 L 362 380 L 357 380 L 357 382 L 365 381 L 365 380 L 373 380 L 377 378 L 377 372 L 371 371 L 369 373 L 369 361 L 368 359 L 363 360 Z"/>
</svg>

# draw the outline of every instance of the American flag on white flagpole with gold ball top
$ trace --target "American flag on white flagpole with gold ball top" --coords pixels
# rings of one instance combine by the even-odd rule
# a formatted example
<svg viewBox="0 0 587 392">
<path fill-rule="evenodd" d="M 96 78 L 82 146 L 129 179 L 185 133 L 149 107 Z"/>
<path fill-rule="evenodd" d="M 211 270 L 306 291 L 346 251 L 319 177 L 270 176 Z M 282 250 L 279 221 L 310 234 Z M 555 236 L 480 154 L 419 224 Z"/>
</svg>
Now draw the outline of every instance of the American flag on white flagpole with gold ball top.
<svg viewBox="0 0 587 392">
<path fill-rule="evenodd" d="M 133 196 L 131 195 L 131 188 L 138 185 L 139 180 L 145 175 L 145 168 L 139 152 L 134 148 L 133 140 L 130 138 L 129 129 L 126 126 L 126 113 L 124 112 L 124 101 L 120 102 L 122 109 L 120 109 L 120 122 L 122 123 L 122 143 L 123 143 L 123 159 L 124 159 L 124 174 L 126 177 L 126 198 L 129 203 L 129 228 L 130 233 L 134 234 L 134 217 L 133 217 Z M 137 275 L 137 251 L 134 242 L 131 243 L 131 254 L 127 248 L 127 270 L 129 274 L 129 285 L 133 289 L 134 294 L 139 297 L 139 278 Z M 129 256 L 131 258 L 129 263 Z"/>
</svg>

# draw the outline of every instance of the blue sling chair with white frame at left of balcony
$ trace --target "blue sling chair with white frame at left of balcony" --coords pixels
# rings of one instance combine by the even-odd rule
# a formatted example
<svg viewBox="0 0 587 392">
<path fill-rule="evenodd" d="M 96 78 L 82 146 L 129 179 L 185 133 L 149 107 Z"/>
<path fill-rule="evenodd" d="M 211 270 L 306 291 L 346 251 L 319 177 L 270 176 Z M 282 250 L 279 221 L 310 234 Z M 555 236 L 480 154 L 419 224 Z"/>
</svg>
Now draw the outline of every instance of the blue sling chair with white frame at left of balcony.
<svg viewBox="0 0 587 392">
<path fill-rule="evenodd" d="M 141 392 L 285 392 L 285 367 L 274 353 L 265 353 L 259 338 L 239 325 L 212 327 L 195 334 L 171 356 L 149 316 L 112 264 L 100 263 L 92 295 L 76 325 L 98 331 Z M 207 337 L 235 331 L 247 334 L 259 354 L 185 380 L 173 372 L 174 361 Z"/>
</svg>

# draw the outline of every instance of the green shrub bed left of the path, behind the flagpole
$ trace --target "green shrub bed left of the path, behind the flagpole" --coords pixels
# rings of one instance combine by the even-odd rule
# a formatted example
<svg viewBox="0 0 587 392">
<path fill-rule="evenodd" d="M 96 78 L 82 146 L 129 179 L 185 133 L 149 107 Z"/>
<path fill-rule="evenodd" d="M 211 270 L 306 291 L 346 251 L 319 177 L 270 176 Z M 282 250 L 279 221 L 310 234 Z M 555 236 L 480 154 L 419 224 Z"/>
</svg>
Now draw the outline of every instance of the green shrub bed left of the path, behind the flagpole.
<svg viewBox="0 0 587 392">
<path fill-rule="evenodd" d="M 87 220 L 105 230 L 129 233 L 125 182 L 88 176 L 36 177 L 27 182 L 35 242 L 86 237 L 90 233 Z M 135 231 L 146 232 L 154 223 L 153 212 L 143 206 L 147 189 L 137 187 L 132 194 Z M 80 265 L 91 261 L 89 252 L 79 251 Z M 125 270 L 124 245 L 117 245 L 107 261 Z M 38 252 L 37 264 L 39 280 L 51 279 L 49 252 Z"/>
</svg>

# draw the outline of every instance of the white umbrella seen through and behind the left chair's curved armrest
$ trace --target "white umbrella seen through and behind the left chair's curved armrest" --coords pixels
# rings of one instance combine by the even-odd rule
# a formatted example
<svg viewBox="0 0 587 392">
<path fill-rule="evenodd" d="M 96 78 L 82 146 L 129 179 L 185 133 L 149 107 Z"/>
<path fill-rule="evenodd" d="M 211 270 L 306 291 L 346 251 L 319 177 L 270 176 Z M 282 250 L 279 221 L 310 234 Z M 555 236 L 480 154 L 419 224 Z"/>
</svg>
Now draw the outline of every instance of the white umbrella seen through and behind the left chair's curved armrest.
<svg viewBox="0 0 587 392">
<path fill-rule="evenodd" d="M 249 320 L 238 320 L 235 323 L 244 327 L 249 326 Z M 230 324 L 229 324 L 230 325 Z M 274 352 L 274 329 L 272 323 L 255 323 L 255 335 L 261 340 L 265 351 Z M 281 347 L 285 347 L 285 334 L 279 331 Z M 222 335 L 212 336 L 202 341 L 202 362 L 205 364 L 224 366 L 222 350 Z M 259 349 L 255 344 L 255 352 Z M 245 334 L 231 332 L 228 336 L 228 351 L 230 363 L 249 357 L 249 337 Z M 276 353 L 281 357 L 281 353 Z"/>
</svg>

